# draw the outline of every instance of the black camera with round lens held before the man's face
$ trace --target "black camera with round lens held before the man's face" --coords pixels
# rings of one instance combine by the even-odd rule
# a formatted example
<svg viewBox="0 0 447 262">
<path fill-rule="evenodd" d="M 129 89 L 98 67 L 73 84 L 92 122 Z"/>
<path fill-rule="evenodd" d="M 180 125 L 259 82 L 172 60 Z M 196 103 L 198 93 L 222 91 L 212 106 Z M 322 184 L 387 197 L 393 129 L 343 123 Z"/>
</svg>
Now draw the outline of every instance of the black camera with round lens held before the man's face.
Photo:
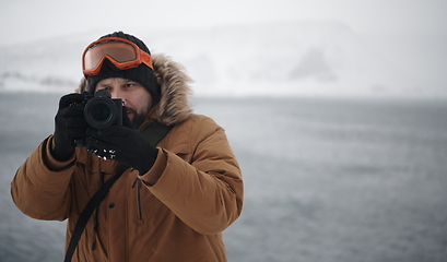
<svg viewBox="0 0 447 262">
<path fill-rule="evenodd" d="M 90 127 L 103 130 L 111 126 L 122 126 L 122 99 L 113 99 L 110 93 L 105 90 L 84 96 L 84 118 Z M 87 146 L 85 138 L 74 140 L 74 143 L 79 147 Z"/>
</svg>

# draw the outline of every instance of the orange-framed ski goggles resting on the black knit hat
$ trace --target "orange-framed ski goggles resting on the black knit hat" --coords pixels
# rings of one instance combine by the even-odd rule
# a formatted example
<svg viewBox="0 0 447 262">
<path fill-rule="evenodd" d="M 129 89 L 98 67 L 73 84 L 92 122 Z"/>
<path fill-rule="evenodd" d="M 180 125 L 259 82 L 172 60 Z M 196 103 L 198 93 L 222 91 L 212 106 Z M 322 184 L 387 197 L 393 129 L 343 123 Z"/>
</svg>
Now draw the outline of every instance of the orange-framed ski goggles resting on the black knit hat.
<svg viewBox="0 0 447 262">
<path fill-rule="evenodd" d="M 104 37 L 85 48 L 82 55 L 84 75 L 97 75 L 106 58 L 119 70 L 137 68 L 141 63 L 153 69 L 151 55 L 132 41 L 120 37 Z"/>
</svg>

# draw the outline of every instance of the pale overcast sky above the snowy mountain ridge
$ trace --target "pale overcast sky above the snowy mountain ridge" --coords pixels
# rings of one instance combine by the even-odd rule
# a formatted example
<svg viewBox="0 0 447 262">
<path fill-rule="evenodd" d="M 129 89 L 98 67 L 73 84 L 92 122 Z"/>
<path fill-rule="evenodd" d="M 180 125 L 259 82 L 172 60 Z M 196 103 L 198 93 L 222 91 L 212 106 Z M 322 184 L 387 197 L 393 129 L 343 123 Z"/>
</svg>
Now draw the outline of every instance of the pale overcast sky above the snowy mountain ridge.
<svg viewBox="0 0 447 262">
<path fill-rule="evenodd" d="M 101 28 L 332 20 L 357 33 L 444 32 L 446 0 L 1 0 L 0 45 Z"/>
</svg>

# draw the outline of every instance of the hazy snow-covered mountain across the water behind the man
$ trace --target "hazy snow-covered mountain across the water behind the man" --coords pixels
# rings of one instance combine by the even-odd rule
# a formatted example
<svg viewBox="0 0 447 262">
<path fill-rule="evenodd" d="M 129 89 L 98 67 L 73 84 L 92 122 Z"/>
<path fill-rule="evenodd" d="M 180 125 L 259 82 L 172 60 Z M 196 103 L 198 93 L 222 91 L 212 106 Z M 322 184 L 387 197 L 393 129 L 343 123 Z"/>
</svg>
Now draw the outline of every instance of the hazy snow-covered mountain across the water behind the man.
<svg viewBox="0 0 447 262">
<path fill-rule="evenodd" d="M 143 33 L 141 33 L 143 32 Z M 183 63 L 195 94 L 228 96 L 447 96 L 349 26 L 296 22 L 209 29 L 142 29 L 153 53 Z M 0 49 L 0 91 L 71 92 L 85 46 L 110 32 L 86 32 Z M 368 39 L 368 40 L 367 40 Z"/>
</svg>

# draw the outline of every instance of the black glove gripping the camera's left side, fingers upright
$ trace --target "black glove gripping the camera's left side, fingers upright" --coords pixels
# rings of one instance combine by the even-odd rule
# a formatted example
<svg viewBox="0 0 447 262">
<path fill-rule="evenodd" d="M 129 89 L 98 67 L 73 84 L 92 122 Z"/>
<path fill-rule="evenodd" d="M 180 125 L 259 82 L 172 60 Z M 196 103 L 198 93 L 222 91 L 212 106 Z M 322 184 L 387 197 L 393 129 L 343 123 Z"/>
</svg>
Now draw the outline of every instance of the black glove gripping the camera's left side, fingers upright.
<svg viewBox="0 0 447 262">
<path fill-rule="evenodd" d="M 84 119 L 84 95 L 68 94 L 60 98 L 55 117 L 55 146 L 51 155 L 58 160 L 67 160 L 74 152 L 74 140 L 84 138 L 87 123 Z"/>
</svg>

